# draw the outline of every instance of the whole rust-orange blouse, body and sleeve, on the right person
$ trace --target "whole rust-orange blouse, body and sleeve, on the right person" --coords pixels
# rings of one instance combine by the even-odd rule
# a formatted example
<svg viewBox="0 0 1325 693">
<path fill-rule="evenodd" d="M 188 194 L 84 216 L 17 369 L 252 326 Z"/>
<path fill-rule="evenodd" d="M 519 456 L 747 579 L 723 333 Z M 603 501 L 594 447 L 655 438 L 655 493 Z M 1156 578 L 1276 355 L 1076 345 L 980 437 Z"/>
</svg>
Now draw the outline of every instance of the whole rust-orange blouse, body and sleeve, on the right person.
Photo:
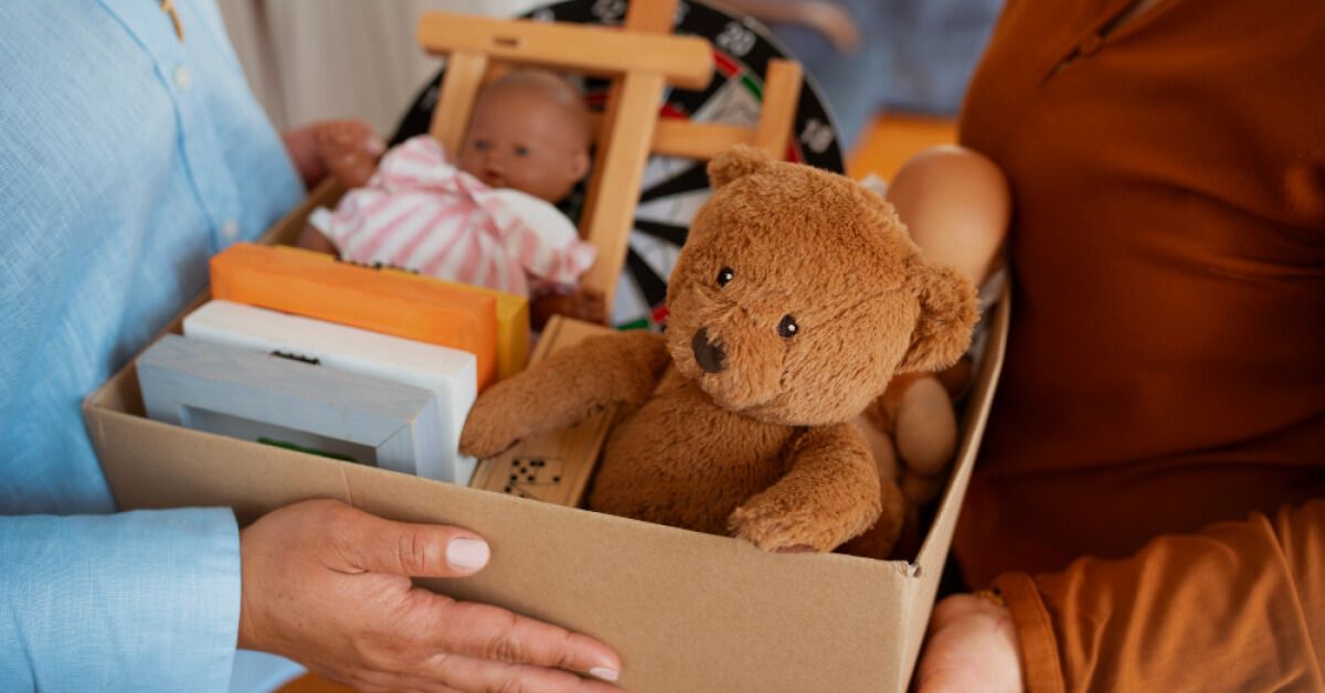
<svg viewBox="0 0 1325 693">
<path fill-rule="evenodd" d="M 955 551 L 1032 688 L 1325 688 L 1325 4 L 1133 4 L 1011 0 L 967 94 L 1016 281 Z"/>
</svg>

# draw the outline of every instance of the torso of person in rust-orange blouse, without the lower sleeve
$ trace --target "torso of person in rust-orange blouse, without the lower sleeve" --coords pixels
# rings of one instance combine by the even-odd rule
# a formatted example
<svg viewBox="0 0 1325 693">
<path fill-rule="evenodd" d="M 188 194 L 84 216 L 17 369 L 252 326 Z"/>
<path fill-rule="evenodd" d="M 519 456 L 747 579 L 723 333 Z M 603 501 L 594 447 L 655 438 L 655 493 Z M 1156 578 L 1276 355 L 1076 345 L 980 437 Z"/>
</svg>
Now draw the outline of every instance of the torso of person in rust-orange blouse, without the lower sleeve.
<svg viewBox="0 0 1325 693">
<path fill-rule="evenodd" d="M 962 142 L 1014 195 L 969 576 L 1325 493 L 1325 5 L 1012 0 Z"/>
</svg>

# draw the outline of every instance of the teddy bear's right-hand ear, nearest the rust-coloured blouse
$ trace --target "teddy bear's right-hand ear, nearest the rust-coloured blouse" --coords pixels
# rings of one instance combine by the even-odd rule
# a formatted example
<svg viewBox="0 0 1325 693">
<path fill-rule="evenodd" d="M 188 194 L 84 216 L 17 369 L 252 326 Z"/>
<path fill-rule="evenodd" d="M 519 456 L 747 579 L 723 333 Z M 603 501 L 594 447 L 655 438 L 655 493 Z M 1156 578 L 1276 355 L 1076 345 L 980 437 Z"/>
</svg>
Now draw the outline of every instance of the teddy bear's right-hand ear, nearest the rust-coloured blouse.
<svg viewBox="0 0 1325 693">
<path fill-rule="evenodd" d="M 920 298 L 920 319 L 897 372 L 930 372 L 962 358 L 979 317 L 975 288 L 955 269 L 916 256 L 908 284 Z"/>
</svg>

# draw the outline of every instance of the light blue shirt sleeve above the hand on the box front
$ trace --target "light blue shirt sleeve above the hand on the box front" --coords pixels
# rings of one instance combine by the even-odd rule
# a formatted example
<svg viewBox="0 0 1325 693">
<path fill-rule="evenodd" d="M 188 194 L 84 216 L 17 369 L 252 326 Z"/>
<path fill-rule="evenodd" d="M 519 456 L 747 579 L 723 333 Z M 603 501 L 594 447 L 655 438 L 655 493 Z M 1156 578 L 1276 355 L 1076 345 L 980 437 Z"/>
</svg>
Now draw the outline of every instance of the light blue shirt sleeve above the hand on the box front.
<svg viewBox="0 0 1325 693">
<path fill-rule="evenodd" d="M 228 509 L 0 517 L 11 690 L 225 690 L 240 612 Z"/>
</svg>

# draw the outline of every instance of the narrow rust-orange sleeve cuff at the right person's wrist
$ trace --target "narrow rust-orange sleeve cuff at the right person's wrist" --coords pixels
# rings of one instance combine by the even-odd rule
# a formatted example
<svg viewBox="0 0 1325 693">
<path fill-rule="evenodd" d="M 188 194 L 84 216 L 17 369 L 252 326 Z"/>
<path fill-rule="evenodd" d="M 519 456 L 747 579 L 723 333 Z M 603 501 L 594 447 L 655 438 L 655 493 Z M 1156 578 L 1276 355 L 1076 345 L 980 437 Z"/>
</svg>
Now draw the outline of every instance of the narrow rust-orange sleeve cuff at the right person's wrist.
<svg viewBox="0 0 1325 693">
<path fill-rule="evenodd" d="M 1004 572 L 994 580 L 994 588 L 1012 612 L 1026 690 L 1030 693 L 1067 690 L 1053 623 L 1049 620 L 1049 610 L 1040 599 L 1040 591 L 1035 587 L 1035 580 L 1024 572 Z"/>
</svg>

